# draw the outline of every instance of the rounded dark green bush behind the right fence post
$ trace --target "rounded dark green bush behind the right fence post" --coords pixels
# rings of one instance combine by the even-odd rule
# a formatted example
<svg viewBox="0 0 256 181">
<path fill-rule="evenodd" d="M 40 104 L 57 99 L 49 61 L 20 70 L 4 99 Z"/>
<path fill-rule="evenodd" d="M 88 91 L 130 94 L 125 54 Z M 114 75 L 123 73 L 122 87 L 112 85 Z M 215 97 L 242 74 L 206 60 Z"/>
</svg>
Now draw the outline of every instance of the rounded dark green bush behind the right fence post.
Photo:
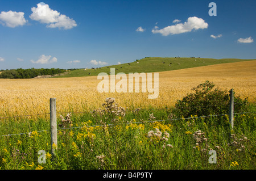
<svg viewBox="0 0 256 181">
<path fill-rule="evenodd" d="M 229 113 L 229 91 L 214 88 L 214 83 L 205 81 L 192 90 L 195 91 L 177 100 L 176 114 L 190 117 L 191 115 L 215 115 Z M 247 98 L 242 100 L 234 93 L 234 112 L 245 112 L 248 109 Z"/>
</svg>

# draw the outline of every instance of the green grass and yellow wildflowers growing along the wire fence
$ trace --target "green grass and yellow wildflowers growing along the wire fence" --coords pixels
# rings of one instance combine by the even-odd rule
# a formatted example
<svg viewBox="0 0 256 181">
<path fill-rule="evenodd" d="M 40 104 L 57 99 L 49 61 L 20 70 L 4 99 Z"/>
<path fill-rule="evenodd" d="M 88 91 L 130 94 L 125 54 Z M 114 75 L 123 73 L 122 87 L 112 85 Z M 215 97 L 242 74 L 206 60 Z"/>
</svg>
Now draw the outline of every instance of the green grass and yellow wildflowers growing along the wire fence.
<svg viewBox="0 0 256 181">
<path fill-rule="evenodd" d="M 205 82 L 195 90 L 201 91 L 202 97 L 225 96 L 225 92 L 218 89 L 203 92 L 211 86 L 212 83 Z M 235 103 L 236 100 L 239 98 Z M 58 144 L 53 145 L 55 155 L 51 154 L 48 119 L 3 120 L 0 135 L 27 134 L 0 137 L 0 167 L 44 170 L 256 169 L 255 113 L 235 115 L 234 129 L 230 130 L 228 115 L 183 117 L 183 113 L 188 112 L 180 110 L 178 105 L 185 102 L 186 99 L 177 102 L 177 108 L 129 111 L 118 106 L 113 98 L 107 98 L 102 107 L 92 112 L 81 115 L 60 113 Z M 255 105 L 248 105 L 246 100 L 240 103 L 240 107 L 235 104 L 235 110 L 255 111 Z M 220 111 L 221 107 L 217 106 L 211 113 Z M 39 163 L 39 150 L 46 151 L 45 163 Z M 216 163 L 209 162 L 210 150 L 216 151 Z"/>
</svg>

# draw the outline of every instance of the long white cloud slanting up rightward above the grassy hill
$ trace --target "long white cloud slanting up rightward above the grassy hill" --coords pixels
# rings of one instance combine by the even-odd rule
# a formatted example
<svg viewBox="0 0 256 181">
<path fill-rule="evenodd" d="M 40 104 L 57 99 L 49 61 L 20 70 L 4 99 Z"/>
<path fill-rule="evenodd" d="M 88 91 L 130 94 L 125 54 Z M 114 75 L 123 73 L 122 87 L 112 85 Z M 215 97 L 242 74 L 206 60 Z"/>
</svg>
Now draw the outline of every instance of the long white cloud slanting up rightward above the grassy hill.
<svg viewBox="0 0 256 181">
<path fill-rule="evenodd" d="M 155 27 L 152 30 L 152 33 L 161 33 L 163 36 L 175 35 L 185 32 L 191 32 L 192 30 L 199 30 L 208 28 L 208 23 L 205 23 L 203 19 L 194 17 L 189 17 L 187 22 L 179 23 L 172 26 L 165 27 L 161 30 L 158 30 L 158 27 Z"/>
</svg>

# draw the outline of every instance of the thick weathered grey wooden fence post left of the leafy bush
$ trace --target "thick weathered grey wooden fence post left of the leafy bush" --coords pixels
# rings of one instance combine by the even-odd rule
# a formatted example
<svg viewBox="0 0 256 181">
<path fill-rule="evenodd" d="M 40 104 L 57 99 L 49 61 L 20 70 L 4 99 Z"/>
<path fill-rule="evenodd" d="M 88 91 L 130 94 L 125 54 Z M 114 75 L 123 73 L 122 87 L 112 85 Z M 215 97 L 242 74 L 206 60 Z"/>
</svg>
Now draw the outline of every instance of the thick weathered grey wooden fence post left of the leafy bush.
<svg viewBox="0 0 256 181">
<path fill-rule="evenodd" d="M 50 120 L 51 120 L 51 146 L 52 155 L 57 150 L 57 116 L 56 116 L 56 98 L 50 99 Z M 54 144 L 54 145 L 53 145 Z"/>
</svg>

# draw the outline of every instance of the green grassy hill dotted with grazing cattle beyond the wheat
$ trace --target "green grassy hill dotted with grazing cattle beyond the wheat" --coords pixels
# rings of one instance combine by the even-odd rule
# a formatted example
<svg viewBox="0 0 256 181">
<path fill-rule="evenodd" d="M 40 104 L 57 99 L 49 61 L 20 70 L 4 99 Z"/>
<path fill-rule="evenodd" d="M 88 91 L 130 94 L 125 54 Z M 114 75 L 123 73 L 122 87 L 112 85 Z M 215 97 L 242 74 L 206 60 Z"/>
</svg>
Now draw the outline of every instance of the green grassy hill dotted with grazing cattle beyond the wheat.
<svg viewBox="0 0 256 181">
<path fill-rule="evenodd" d="M 115 74 L 117 73 L 148 73 L 148 72 L 158 72 L 158 71 L 168 71 L 168 70 L 179 70 L 194 68 L 199 66 L 215 65 L 215 64 L 225 64 L 231 62 L 240 61 L 250 61 L 247 59 L 235 59 L 235 58 L 225 58 L 225 59 L 213 59 L 213 58 L 161 58 L 161 57 L 145 57 L 141 60 L 131 62 L 129 64 L 120 65 L 110 65 L 104 66 L 98 69 L 79 69 L 69 71 L 66 75 L 60 75 L 57 77 L 85 77 L 98 75 L 101 72 L 110 74 L 110 68 L 115 68 Z M 56 77 L 55 77 L 56 78 Z"/>
</svg>

